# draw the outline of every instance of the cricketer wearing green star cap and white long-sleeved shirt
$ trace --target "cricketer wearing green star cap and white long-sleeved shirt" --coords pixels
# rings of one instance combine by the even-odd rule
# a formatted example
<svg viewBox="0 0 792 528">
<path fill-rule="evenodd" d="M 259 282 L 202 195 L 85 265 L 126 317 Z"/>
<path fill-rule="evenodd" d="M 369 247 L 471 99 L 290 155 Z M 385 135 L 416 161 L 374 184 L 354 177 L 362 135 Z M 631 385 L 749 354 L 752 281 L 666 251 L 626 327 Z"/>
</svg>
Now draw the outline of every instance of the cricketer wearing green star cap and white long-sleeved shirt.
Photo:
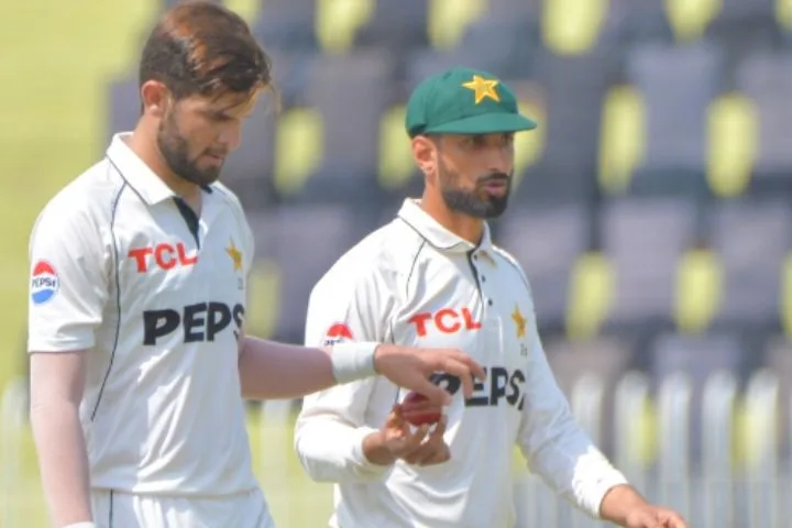
<svg viewBox="0 0 792 528">
<path fill-rule="evenodd" d="M 514 136 L 537 124 L 497 77 L 453 68 L 407 103 L 420 199 L 346 251 L 311 290 L 306 344 L 393 342 L 462 350 L 486 371 L 436 372 L 439 408 L 377 377 L 305 398 L 295 448 L 307 473 L 336 485 L 333 528 L 512 528 L 513 449 L 535 474 L 595 518 L 629 528 L 684 528 L 648 504 L 576 424 L 539 337 L 517 261 L 486 219 L 506 210 Z M 530 133 L 530 132 L 527 132 Z M 534 499 L 531 499 L 534 498 Z M 549 526 L 536 518 L 531 526 Z"/>
</svg>

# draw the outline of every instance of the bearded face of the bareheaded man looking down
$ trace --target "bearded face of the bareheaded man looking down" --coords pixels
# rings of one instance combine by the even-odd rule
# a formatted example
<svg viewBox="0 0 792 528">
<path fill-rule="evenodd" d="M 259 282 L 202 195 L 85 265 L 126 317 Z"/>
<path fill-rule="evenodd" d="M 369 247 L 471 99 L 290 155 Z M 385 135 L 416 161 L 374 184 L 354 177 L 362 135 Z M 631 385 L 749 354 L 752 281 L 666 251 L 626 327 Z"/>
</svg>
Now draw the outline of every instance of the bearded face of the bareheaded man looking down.
<svg viewBox="0 0 792 528">
<path fill-rule="evenodd" d="M 189 96 L 167 107 L 157 130 L 157 146 L 170 169 L 198 185 L 220 177 L 220 169 L 240 144 L 242 121 L 255 95 L 229 94 L 217 99 Z"/>
</svg>

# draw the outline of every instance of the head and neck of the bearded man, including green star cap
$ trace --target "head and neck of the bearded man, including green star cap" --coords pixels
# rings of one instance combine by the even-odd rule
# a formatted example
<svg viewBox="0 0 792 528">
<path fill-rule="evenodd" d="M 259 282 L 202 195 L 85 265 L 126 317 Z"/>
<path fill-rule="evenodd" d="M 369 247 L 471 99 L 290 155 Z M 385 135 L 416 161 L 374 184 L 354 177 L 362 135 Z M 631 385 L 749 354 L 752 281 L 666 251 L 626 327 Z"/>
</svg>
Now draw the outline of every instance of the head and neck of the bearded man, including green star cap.
<svg viewBox="0 0 792 528">
<path fill-rule="evenodd" d="M 519 113 L 508 85 L 464 67 L 418 85 L 405 121 L 415 161 L 426 175 L 424 206 L 477 240 L 481 219 L 506 210 L 515 133 L 537 123 Z"/>
</svg>

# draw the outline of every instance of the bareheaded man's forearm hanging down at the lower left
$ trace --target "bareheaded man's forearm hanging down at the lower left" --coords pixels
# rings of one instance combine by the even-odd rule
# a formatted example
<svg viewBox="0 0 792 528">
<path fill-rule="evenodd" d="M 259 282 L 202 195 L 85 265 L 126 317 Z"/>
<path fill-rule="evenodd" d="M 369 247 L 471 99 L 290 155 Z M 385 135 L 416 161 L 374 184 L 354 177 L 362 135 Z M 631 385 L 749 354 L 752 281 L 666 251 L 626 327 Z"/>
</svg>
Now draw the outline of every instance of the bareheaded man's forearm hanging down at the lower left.
<svg viewBox="0 0 792 528">
<path fill-rule="evenodd" d="M 31 425 L 53 526 L 92 520 L 88 460 L 77 405 L 35 403 Z"/>
</svg>

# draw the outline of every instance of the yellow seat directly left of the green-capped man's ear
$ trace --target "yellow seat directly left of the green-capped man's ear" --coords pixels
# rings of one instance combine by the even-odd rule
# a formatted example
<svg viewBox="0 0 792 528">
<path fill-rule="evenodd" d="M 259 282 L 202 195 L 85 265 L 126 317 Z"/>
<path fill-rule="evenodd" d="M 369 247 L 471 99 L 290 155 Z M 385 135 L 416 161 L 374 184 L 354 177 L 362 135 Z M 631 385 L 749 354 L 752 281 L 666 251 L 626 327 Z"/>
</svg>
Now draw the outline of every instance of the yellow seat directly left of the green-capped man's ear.
<svg viewBox="0 0 792 528">
<path fill-rule="evenodd" d="M 380 122 L 380 184 L 386 189 L 404 187 L 415 168 L 405 131 L 405 107 L 394 107 Z"/>
</svg>

